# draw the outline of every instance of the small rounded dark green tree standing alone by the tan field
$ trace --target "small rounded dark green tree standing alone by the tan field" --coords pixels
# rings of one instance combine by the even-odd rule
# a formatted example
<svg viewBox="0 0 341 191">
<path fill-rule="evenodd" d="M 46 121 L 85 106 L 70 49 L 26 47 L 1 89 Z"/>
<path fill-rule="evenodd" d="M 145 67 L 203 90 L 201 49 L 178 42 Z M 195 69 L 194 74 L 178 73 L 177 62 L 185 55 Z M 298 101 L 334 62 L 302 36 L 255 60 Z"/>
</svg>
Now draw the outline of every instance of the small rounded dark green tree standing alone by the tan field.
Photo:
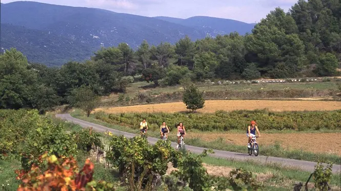
<svg viewBox="0 0 341 191">
<path fill-rule="evenodd" d="M 192 84 L 185 88 L 183 102 L 186 104 L 186 108 L 191 109 L 192 112 L 204 108 L 205 100 L 203 98 L 203 92 L 200 92 L 197 87 Z"/>
</svg>

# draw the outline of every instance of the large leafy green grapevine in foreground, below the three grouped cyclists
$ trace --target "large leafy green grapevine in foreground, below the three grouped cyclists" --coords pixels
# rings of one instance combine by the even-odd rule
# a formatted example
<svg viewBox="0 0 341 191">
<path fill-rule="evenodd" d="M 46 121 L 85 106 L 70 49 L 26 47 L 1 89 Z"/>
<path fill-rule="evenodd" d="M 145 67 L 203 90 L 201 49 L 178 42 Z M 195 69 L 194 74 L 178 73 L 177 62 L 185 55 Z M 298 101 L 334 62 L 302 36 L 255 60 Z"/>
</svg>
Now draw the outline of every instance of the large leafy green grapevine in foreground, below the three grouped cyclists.
<svg viewBox="0 0 341 191">
<path fill-rule="evenodd" d="M 131 181 L 141 181 L 144 186 L 151 183 L 150 178 L 165 175 L 168 162 L 176 166 L 179 155 L 169 142 L 158 140 L 151 146 L 141 136 L 127 139 L 112 135 L 109 146 L 106 159 L 118 169 L 122 180 L 133 176 L 135 178 Z"/>
</svg>

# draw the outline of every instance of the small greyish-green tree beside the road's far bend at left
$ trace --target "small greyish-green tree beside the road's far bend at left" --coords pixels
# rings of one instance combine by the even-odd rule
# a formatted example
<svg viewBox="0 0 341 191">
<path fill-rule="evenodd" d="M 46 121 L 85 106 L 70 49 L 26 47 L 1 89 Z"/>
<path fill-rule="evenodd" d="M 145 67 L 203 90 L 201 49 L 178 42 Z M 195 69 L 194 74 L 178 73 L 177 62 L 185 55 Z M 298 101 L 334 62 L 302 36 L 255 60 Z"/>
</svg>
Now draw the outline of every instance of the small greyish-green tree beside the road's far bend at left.
<svg viewBox="0 0 341 191">
<path fill-rule="evenodd" d="M 71 106 L 81 108 L 89 117 L 91 111 L 93 111 L 101 102 L 101 98 L 91 90 L 89 86 L 82 86 L 72 90 L 69 97 L 69 103 Z"/>
</svg>

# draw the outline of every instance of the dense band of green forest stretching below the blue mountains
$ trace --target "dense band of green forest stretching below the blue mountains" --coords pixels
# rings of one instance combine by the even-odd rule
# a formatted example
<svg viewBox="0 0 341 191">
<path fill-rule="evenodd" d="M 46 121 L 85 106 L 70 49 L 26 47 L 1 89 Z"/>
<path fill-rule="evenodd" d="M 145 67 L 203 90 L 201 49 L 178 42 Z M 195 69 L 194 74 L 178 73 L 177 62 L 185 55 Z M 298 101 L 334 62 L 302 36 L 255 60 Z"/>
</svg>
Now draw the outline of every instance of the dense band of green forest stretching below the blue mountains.
<svg viewBox="0 0 341 191">
<path fill-rule="evenodd" d="M 288 13 L 276 8 L 251 34 L 231 33 L 137 51 L 126 43 L 98 50 L 84 63 L 60 68 L 28 63 L 15 49 L 0 55 L 0 108 L 44 111 L 68 103 L 75 88 L 96 94 L 124 92 L 137 78 L 155 85 L 182 80 L 333 76 L 341 60 L 341 1 L 298 1 Z"/>
</svg>

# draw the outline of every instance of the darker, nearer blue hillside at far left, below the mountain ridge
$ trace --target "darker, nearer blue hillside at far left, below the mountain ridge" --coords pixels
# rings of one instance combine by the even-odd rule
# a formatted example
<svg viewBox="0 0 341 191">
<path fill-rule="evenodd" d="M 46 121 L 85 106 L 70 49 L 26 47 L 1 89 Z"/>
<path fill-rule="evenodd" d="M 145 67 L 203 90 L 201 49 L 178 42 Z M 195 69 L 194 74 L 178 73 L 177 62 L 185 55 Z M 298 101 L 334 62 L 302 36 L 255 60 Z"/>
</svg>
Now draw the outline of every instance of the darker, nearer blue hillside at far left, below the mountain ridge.
<svg viewBox="0 0 341 191">
<path fill-rule="evenodd" d="M 5 23 L 1 23 L 0 29 L 1 47 L 14 46 L 25 53 L 29 61 L 49 66 L 70 60 L 81 62 L 90 59 L 96 51 L 95 47 L 49 32 Z"/>
</svg>

